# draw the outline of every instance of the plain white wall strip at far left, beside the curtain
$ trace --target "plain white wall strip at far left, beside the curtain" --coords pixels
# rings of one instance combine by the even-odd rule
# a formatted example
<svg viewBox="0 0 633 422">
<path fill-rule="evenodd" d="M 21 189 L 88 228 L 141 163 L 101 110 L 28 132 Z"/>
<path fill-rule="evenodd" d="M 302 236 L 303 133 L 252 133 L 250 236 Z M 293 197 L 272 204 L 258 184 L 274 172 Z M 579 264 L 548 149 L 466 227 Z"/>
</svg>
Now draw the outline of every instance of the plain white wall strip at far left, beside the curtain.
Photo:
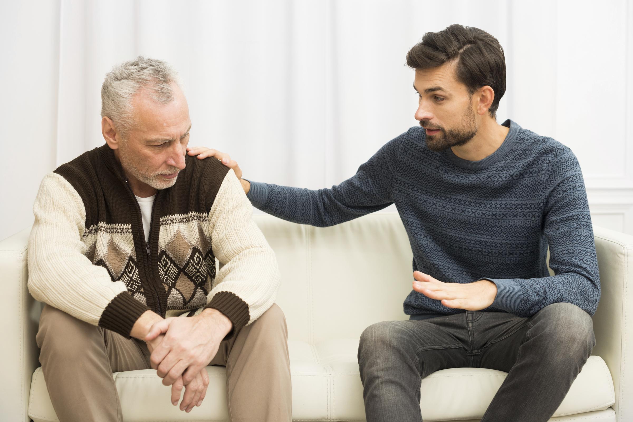
<svg viewBox="0 0 633 422">
<path fill-rule="evenodd" d="M 0 3 L 0 239 L 33 222 L 40 181 L 55 167 L 60 4 Z"/>
</svg>

